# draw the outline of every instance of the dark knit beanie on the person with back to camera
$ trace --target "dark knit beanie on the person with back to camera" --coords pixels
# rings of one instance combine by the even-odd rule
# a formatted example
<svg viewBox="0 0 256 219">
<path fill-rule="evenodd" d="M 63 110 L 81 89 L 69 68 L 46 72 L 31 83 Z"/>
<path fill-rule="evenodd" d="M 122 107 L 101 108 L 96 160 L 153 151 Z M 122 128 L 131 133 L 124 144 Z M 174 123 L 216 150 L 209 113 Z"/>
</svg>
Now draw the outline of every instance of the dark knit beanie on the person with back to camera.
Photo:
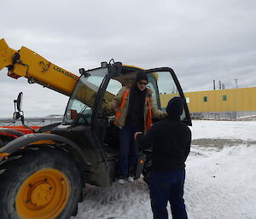
<svg viewBox="0 0 256 219">
<path fill-rule="evenodd" d="M 173 97 L 166 107 L 166 112 L 171 118 L 179 118 L 183 113 L 183 99 L 180 97 Z"/>
</svg>

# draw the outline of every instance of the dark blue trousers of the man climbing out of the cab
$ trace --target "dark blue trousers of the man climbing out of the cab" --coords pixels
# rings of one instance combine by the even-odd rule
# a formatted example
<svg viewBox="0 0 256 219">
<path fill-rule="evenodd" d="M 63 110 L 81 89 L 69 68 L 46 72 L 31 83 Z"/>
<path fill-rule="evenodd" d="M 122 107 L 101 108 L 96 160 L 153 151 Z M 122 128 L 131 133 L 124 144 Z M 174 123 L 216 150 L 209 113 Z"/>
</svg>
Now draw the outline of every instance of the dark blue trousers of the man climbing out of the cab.
<svg viewBox="0 0 256 219">
<path fill-rule="evenodd" d="M 131 125 L 125 125 L 122 130 L 119 130 L 119 176 L 127 176 L 134 170 L 138 151 L 134 133 L 137 131 L 142 130 Z"/>
</svg>

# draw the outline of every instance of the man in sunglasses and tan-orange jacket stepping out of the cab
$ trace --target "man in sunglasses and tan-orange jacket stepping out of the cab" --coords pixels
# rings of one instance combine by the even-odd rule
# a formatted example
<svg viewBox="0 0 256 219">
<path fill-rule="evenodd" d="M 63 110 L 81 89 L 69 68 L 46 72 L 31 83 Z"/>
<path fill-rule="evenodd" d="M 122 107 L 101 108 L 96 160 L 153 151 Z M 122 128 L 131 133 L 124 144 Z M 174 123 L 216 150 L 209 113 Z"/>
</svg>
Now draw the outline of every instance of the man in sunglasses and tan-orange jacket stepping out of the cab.
<svg viewBox="0 0 256 219">
<path fill-rule="evenodd" d="M 151 127 L 151 117 L 164 118 L 166 112 L 161 112 L 154 104 L 152 91 L 146 86 L 148 76 L 138 73 L 136 84 L 125 86 L 110 103 L 110 109 L 116 109 L 114 124 L 119 127 L 119 183 L 134 181 L 134 164 L 137 161 L 137 143 L 133 135 L 137 131 L 144 133 Z"/>
</svg>

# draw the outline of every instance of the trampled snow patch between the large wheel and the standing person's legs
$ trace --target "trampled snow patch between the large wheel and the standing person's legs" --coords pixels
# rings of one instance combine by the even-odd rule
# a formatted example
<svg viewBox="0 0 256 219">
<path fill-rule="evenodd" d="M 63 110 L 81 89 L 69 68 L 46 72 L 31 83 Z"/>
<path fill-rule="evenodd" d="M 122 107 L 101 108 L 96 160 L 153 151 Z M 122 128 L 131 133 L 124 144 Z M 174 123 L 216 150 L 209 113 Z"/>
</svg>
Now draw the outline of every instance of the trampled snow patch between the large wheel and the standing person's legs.
<svg viewBox="0 0 256 219">
<path fill-rule="evenodd" d="M 150 218 L 148 186 L 143 179 L 124 185 L 113 183 L 101 188 L 86 185 L 84 201 L 79 204 L 78 219 L 130 219 Z"/>
</svg>

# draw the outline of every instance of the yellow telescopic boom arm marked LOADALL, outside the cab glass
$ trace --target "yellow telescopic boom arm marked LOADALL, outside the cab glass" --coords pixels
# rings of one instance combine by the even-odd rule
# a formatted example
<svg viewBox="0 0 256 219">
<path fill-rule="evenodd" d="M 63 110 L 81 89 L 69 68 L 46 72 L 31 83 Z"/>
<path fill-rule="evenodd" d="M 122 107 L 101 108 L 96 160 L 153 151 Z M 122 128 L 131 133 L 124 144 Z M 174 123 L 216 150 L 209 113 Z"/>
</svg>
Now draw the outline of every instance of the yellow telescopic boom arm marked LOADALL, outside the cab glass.
<svg viewBox="0 0 256 219">
<path fill-rule="evenodd" d="M 20 50 L 9 48 L 4 39 L 0 40 L 0 70 L 8 67 L 11 78 L 28 78 L 30 83 L 42 84 L 61 94 L 70 96 L 79 77 L 55 66 L 42 56 L 22 46 Z"/>
</svg>

